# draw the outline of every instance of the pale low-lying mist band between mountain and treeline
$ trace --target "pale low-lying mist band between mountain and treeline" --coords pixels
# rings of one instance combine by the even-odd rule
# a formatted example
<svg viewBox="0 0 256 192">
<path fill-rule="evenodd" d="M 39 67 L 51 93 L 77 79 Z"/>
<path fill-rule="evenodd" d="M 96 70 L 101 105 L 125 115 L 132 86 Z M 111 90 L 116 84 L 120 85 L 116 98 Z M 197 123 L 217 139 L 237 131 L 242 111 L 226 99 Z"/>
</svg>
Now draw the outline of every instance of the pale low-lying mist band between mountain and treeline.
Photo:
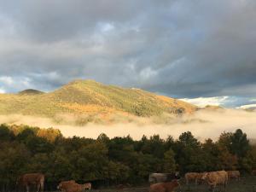
<svg viewBox="0 0 256 192">
<path fill-rule="evenodd" d="M 124 137 L 130 135 L 134 139 L 141 139 L 143 135 L 159 134 L 166 138 L 177 138 L 184 131 L 191 131 L 200 140 L 205 138 L 217 139 L 224 131 L 236 131 L 240 128 L 247 133 L 248 138 L 256 138 L 256 112 L 247 112 L 235 109 L 200 110 L 193 115 L 174 117 L 164 115 L 157 118 L 133 117 L 124 121 L 118 120 L 108 125 L 88 123 L 75 125 L 75 118 L 71 115 L 62 115 L 65 121 L 57 123 L 53 119 L 38 118 L 20 114 L 0 115 L 0 123 L 15 125 L 31 125 L 38 127 L 54 127 L 59 129 L 64 137 L 98 137 L 102 132 L 108 137 Z M 64 123 L 63 123 L 64 122 Z"/>
</svg>

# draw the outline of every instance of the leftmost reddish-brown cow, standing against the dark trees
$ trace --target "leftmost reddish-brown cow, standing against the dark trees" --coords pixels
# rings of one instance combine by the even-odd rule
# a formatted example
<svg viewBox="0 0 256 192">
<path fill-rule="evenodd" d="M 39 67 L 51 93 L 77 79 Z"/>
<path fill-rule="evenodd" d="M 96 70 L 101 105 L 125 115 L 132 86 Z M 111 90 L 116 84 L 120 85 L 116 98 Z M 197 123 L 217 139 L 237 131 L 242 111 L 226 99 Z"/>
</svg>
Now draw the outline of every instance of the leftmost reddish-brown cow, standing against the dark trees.
<svg viewBox="0 0 256 192">
<path fill-rule="evenodd" d="M 44 191 L 44 174 L 42 173 L 26 173 L 17 178 L 17 185 L 26 187 L 26 192 L 34 185 L 37 187 L 37 192 Z"/>
</svg>

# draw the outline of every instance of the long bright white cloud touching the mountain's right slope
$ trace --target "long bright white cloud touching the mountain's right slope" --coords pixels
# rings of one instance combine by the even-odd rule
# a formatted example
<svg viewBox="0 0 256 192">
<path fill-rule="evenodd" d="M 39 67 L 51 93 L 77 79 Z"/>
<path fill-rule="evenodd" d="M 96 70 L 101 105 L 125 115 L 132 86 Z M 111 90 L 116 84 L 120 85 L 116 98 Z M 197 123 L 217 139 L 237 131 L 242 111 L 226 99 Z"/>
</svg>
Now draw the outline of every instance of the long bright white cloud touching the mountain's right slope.
<svg viewBox="0 0 256 192">
<path fill-rule="evenodd" d="M 198 97 L 198 98 L 183 98 L 184 102 L 195 104 L 199 107 L 206 107 L 207 105 L 221 106 L 226 102 L 230 102 L 230 96 L 213 96 L 213 97 Z"/>
</svg>

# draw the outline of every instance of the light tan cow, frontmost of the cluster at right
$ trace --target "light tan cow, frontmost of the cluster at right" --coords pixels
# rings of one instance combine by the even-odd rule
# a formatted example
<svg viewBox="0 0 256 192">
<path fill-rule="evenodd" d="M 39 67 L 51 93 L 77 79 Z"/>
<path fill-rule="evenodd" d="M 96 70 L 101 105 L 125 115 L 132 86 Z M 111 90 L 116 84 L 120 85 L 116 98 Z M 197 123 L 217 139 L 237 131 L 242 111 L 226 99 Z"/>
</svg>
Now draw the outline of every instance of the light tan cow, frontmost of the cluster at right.
<svg viewBox="0 0 256 192">
<path fill-rule="evenodd" d="M 212 188 L 212 191 L 216 188 L 218 184 L 224 185 L 224 191 L 226 191 L 226 185 L 228 183 L 228 173 L 225 171 L 218 172 L 207 172 L 201 177 L 206 180 L 208 185 Z"/>
</svg>

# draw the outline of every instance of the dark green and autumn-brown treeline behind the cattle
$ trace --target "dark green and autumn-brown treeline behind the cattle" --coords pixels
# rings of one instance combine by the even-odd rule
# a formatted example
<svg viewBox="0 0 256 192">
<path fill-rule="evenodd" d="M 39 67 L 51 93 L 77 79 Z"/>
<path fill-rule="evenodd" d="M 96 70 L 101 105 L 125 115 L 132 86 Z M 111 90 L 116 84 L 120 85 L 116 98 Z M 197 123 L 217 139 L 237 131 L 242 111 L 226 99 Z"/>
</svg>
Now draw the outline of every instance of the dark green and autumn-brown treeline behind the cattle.
<svg viewBox="0 0 256 192">
<path fill-rule="evenodd" d="M 191 132 L 177 140 L 158 135 L 134 141 L 130 136 L 97 139 L 62 137 L 55 129 L 0 125 L 0 184 L 8 188 L 27 172 L 42 172 L 55 188 L 61 180 L 103 184 L 146 183 L 151 172 L 208 172 L 256 168 L 256 146 L 240 129 L 213 142 Z M 47 186 L 47 185 L 46 185 Z"/>
</svg>

